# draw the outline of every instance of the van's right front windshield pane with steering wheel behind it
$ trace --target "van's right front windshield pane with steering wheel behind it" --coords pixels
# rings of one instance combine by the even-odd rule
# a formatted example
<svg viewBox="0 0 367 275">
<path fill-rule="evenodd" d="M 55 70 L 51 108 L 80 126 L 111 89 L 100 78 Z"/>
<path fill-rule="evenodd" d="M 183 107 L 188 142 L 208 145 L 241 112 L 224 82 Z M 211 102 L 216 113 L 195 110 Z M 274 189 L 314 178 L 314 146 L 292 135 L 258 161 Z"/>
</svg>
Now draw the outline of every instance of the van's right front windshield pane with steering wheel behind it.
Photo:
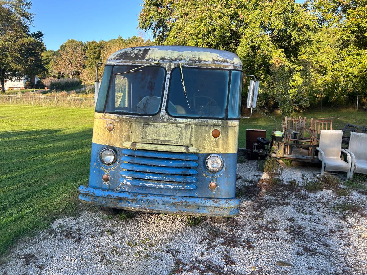
<svg viewBox="0 0 367 275">
<path fill-rule="evenodd" d="M 180 68 L 176 67 L 171 72 L 170 81 L 167 102 L 169 115 L 173 117 L 226 117 L 229 70 L 182 67 L 181 74 Z"/>
</svg>

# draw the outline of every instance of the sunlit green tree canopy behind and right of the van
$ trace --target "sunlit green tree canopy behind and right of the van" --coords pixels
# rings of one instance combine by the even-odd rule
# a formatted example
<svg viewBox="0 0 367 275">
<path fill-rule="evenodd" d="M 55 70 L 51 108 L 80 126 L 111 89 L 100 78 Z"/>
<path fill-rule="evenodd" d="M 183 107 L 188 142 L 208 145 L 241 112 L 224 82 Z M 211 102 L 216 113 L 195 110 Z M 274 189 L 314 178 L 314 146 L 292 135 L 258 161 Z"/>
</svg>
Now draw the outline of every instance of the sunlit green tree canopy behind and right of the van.
<svg viewBox="0 0 367 275">
<path fill-rule="evenodd" d="M 157 44 L 235 52 L 261 79 L 261 98 L 290 115 L 320 94 L 365 90 L 365 9 L 366 0 L 145 0 L 139 27 Z"/>
</svg>

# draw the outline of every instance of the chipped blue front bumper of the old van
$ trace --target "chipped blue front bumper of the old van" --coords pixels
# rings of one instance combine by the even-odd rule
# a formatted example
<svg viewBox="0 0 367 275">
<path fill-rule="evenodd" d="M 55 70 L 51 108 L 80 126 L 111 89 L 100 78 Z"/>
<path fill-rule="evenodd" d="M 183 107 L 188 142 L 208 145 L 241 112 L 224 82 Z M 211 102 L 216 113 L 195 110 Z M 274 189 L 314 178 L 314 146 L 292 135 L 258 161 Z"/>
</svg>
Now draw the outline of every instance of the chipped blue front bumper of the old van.
<svg viewBox="0 0 367 275">
<path fill-rule="evenodd" d="M 239 213 L 239 199 L 139 194 L 84 186 L 79 187 L 79 192 L 83 202 L 126 210 L 215 217 L 234 217 Z"/>
</svg>

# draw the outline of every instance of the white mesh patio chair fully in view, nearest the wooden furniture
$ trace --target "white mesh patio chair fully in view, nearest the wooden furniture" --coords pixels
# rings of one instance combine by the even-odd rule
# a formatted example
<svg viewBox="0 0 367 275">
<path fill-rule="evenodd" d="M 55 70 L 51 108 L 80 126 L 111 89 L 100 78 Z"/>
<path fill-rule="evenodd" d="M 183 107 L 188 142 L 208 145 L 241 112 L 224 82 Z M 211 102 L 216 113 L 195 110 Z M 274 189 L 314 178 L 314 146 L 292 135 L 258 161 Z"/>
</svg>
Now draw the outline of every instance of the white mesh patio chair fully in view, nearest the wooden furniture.
<svg viewBox="0 0 367 275">
<path fill-rule="evenodd" d="M 346 172 L 346 179 L 349 179 L 352 158 L 346 150 L 342 149 L 342 136 L 342 131 L 320 130 L 319 147 L 316 147 L 316 149 L 319 150 L 319 160 L 322 161 L 321 176 L 326 173 L 325 170 L 337 171 Z M 341 159 L 341 152 L 347 155 L 348 162 Z M 341 175 L 337 175 L 343 178 Z"/>
</svg>

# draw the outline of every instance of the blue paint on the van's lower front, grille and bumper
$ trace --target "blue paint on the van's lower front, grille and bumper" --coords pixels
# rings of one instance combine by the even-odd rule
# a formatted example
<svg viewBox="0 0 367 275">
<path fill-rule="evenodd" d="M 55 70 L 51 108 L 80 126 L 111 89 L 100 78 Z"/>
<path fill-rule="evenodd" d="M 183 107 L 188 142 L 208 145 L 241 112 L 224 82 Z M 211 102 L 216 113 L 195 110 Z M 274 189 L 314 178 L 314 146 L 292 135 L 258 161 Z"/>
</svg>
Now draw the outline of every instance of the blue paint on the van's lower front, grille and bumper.
<svg viewBox="0 0 367 275">
<path fill-rule="evenodd" d="M 238 200 L 235 199 L 236 189 L 236 166 L 237 154 L 219 154 L 224 160 L 224 167 L 219 172 L 209 172 L 205 167 L 205 160 L 210 154 L 192 154 L 192 153 L 167 153 L 145 150 L 130 150 L 126 148 L 112 147 L 117 152 L 117 162 L 111 166 L 104 165 L 99 159 L 99 153 L 103 148 L 111 147 L 97 143 L 92 143 L 91 169 L 89 177 L 89 187 L 93 190 L 94 195 L 81 195 L 80 199 L 101 204 L 98 198 L 106 191 L 113 192 L 114 196 L 141 195 L 145 196 L 149 201 L 147 211 L 163 213 L 184 213 L 184 205 L 178 206 L 186 199 L 195 206 L 199 200 L 214 201 L 221 208 L 221 201 L 231 201 L 238 207 Z M 134 151 L 134 152 L 132 152 Z M 128 154 L 129 156 L 126 156 Z M 136 157 L 134 157 L 136 156 Z M 172 160 L 170 160 L 172 158 Z M 174 158 L 174 159 L 173 159 Z M 136 163 L 126 163 L 139 162 Z M 171 164 L 181 167 L 167 167 Z M 194 163 L 194 164 L 193 164 Z M 153 165 L 154 164 L 154 165 Z M 164 166 L 160 166 L 164 165 Z M 133 171 L 130 171 L 133 170 Z M 104 182 L 102 175 L 108 173 L 110 180 Z M 209 183 L 215 181 L 217 188 L 212 191 L 208 188 Z M 84 188 L 84 187 L 80 187 Z M 97 191 L 98 192 L 97 192 Z M 122 195 L 123 194 L 123 195 Z M 88 197 L 88 198 L 87 198 Z M 172 204 L 179 200 L 180 203 L 175 203 L 174 206 L 160 205 L 153 203 L 152 199 L 159 198 L 165 200 L 165 203 Z M 170 198 L 170 202 L 167 199 Z M 207 200 L 210 199 L 210 200 Z M 110 199 L 103 198 L 105 206 L 114 207 Z M 118 200 L 119 208 L 128 208 L 132 202 Z M 213 202 L 214 202 L 213 201 Z M 108 204 L 112 203 L 112 204 Z M 134 204 L 136 205 L 136 203 Z M 116 206 L 116 205 L 115 205 Z M 135 207 L 135 206 L 134 206 Z M 208 206 L 194 207 L 197 214 L 207 216 L 223 216 L 221 214 L 208 214 Z M 140 208 L 139 208 L 140 209 Z M 174 210 L 176 209 L 176 210 Z M 179 210 L 177 210 L 179 209 Z M 187 211 L 192 211 L 189 208 Z M 235 212 L 231 210 L 231 215 Z M 238 213 L 238 209 L 236 210 Z M 185 212 L 186 213 L 186 212 Z M 191 212 L 190 212 L 191 213 Z M 229 215 L 229 212 L 227 213 Z"/>
</svg>

